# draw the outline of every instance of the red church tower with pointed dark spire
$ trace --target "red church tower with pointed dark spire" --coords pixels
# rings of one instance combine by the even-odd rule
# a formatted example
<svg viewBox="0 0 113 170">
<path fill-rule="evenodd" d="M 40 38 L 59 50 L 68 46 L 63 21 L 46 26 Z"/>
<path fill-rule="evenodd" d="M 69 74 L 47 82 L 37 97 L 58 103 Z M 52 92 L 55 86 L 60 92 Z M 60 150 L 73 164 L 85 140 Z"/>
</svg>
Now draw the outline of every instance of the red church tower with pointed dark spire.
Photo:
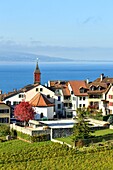
<svg viewBox="0 0 113 170">
<path fill-rule="evenodd" d="M 38 59 L 37 59 L 37 63 L 36 63 L 36 69 L 34 71 L 34 84 L 41 82 L 41 72 L 38 66 Z"/>
</svg>

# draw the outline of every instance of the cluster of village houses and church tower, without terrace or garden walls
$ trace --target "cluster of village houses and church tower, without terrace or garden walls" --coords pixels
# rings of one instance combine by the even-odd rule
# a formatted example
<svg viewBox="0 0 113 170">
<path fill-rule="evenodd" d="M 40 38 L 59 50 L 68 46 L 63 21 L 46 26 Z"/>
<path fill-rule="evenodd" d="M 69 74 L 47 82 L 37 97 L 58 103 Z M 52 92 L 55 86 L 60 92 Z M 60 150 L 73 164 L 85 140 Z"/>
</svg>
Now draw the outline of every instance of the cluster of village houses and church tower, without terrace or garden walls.
<svg viewBox="0 0 113 170">
<path fill-rule="evenodd" d="M 34 83 L 8 94 L 0 91 L 0 101 L 0 123 L 10 123 L 15 106 L 23 101 L 33 106 L 35 120 L 73 118 L 77 108 L 88 107 L 102 115 L 113 114 L 113 78 L 101 74 L 93 82 L 89 79 L 56 80 L 42 85 L 37 61 Z"/>
</svg>

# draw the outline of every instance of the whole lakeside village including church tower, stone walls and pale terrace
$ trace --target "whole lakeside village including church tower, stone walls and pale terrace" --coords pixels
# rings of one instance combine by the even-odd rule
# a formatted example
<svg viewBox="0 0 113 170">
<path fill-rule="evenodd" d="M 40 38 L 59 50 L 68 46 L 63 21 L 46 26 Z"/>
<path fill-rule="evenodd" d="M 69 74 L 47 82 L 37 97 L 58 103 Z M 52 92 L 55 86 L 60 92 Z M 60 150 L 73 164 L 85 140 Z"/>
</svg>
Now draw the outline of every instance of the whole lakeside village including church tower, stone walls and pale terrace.
<svg viewBox="0 0 113 170">
<path fill-rule="evenodd" d="M 21 102 L 29 102 L 35 111 L 27 129 L 18 126 L 14 116 L 15 107 Z M 0 94 L 0 123 L 10 124 L 15 129 L 30 136 L 49 134 L 50 138 L 70 136 L 78 108 L 87 108 L 95 115 L 113 114 L 113 78 L 101 74 L 90 82 L 87 80 L 48 81 L 41 84 L 41 72 L 37 61 L 34 83 L 8 94 Z M 104 121 L 90 119 L 94 127 L 102 127 Z"/>
</svg>

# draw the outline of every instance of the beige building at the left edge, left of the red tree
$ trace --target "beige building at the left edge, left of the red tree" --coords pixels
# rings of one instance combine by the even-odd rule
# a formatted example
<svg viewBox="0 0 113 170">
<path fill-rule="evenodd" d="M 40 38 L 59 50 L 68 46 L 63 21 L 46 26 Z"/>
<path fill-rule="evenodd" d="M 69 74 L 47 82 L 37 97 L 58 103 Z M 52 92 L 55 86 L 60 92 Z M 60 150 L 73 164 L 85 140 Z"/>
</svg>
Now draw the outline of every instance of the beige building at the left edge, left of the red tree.
<svg viewBox="0 0 113 170">
<path fill-rule="evenodd" d="M 10 106 L 0 101 L 0 123 L 10 123 Z"/>
</svg>

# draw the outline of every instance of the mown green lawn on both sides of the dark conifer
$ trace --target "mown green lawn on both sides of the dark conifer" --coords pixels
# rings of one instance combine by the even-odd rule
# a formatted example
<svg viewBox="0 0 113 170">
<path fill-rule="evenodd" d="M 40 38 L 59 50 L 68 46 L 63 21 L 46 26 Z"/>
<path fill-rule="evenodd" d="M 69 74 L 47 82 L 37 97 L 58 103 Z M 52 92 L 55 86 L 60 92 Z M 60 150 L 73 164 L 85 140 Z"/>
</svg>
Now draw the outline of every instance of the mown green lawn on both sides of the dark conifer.
<svg viewBox="0 0 113 170">
<path fill-rule="evenodd" d="M 107 134 L 113 134 L 113 130 L 112 129 L 104 129 L 104 130 L 97 130 L 94 133 L 92 133 L 93 136 L 104 136 Z M 56 139 L 59 141 L 62 141 L 62 142 L 66 142 L 70 145 L 73 145 L 72 136 L 64 137 L 64 138 L 56 138 Z"/>
</svg>

